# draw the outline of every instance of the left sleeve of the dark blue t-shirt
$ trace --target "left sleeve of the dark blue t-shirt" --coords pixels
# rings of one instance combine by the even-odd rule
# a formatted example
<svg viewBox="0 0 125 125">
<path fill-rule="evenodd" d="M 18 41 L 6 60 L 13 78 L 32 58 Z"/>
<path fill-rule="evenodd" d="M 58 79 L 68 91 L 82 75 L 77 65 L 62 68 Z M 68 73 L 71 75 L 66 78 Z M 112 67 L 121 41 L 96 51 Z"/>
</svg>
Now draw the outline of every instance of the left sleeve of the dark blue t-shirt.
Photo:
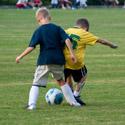
<svg viewBox="0 0 125 125">
<path fill-rule="evenodd" d="M 33 33 L 33 36 L 31 38 L 29 47 L 36 47 L 37 44 L 40 42 L 40 35 L 38 29 Z"/>
</svg>

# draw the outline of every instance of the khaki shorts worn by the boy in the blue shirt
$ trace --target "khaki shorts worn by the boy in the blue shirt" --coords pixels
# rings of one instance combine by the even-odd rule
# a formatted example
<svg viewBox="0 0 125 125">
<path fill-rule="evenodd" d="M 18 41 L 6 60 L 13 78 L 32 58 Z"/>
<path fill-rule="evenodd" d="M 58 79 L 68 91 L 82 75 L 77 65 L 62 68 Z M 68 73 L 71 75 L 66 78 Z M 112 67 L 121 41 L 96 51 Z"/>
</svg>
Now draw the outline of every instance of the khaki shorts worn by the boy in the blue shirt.
<svg viewBox="0 0 125 125">
<path fill-rule="evenodd" d="M 34 74 L 33 85 L 46 87 L 49 73 L 54 79 L 60 80 L 64 77 L 63 72 L 63 65 L 39 65 Z"/>
</svg>

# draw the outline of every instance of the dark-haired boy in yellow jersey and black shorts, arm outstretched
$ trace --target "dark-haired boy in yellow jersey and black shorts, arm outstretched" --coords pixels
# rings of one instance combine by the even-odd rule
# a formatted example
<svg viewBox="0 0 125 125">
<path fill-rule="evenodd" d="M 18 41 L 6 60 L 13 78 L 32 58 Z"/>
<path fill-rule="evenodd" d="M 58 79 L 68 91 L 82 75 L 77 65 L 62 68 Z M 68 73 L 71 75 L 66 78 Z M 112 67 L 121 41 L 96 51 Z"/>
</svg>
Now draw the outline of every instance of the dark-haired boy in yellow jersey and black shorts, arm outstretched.
<svg viewBox="0 0 125 125">
<path fill-rule="evenodd" d="M 74 90 L 74 97 L 81 105 L 86 105 L 80 99 L 80 91 L 85 84 L 85 80 L 87 77 L 87 68 L 85 66 L 85 49 L 87 45 L 95 45 L 95 43 L 100 43 L 106 46 L 109 46 L 113 49 L 117 48 L 117 45 L 109 42 L 108 40 L 103 40 L 92 33 L 88 32 L 89 30 L 89 22 L 87 19 L 81 18 L 76 21 L 76 26 L 69 28 L 66 30 L 67 34 L 69 34 L 72 39 L 73 49 L 75 51 L 75 55 L 77 57 L 77 62 L 73 64 L 70 60 L 70 54 L 68 52 L 68 48 L 65 47 L 64 55 L 65 55 L 65 80 L 71 86 L 72 90 L 72 78 L 77 83 L 76 88 Z"/>
</svg>

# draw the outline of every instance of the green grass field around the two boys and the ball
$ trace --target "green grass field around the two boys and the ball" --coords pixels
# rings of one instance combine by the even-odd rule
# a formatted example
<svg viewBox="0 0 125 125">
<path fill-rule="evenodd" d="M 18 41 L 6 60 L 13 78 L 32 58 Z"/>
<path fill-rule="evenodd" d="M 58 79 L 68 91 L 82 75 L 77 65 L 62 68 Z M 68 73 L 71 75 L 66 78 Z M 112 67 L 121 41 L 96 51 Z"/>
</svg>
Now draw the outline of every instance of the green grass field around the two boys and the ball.
<svg viewBox="0 0 125 125">
<path fill-rule="evenodd" d="M 44 95 L 58 87 L 50 78 L 40 90 L 36 111 L 27 104 L 38 49 L 20 64 L 15 58 L 28 45 L 38 26 L 34 10 L 0 9 L 0 125 L 125 125 L 125 10 L 88 8 L 51 10 L 52 22 L 68 28 L 77 18 L 90 21 L 90 31 L 118 44 L 113 50 L 96 45 L 86 51 L 88 79 L 81 95 L 87 106 L 70 107 L 66 101 L 48 106 Z"/>
</svg>

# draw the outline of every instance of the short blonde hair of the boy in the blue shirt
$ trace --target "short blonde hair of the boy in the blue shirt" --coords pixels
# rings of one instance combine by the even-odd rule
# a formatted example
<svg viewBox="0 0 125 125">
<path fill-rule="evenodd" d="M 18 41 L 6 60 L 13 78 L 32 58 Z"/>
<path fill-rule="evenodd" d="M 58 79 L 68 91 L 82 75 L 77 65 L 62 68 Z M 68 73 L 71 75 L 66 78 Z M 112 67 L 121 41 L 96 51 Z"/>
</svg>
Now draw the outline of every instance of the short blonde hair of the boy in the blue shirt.
<svg viewBox="0 0 125 125">
<path fill-rule="evenodd" d="M 50 13 L 46 7 L 41 7 L 36 11 L 36 17 L 42 16 L 43 18 L 50 19 Z"/>
</svg>

